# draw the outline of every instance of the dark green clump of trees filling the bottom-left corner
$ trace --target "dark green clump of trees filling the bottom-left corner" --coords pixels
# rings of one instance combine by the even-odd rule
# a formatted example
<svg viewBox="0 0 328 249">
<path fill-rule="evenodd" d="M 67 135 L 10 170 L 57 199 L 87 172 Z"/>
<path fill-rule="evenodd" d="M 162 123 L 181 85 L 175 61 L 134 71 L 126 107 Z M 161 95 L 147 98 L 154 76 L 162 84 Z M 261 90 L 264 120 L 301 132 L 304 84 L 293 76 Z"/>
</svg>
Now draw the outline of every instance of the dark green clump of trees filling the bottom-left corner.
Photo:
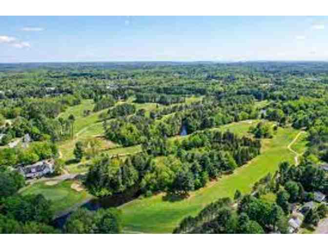
<svg viewBox="0 0 328 249">
<path fill-rule="evenodd" d="M 59 233 L 50 226 L 51 202 L 41 194 L 24 195 L 25 181 L 16 171 L 0 171 L 0 233 Z"/>
</svg>

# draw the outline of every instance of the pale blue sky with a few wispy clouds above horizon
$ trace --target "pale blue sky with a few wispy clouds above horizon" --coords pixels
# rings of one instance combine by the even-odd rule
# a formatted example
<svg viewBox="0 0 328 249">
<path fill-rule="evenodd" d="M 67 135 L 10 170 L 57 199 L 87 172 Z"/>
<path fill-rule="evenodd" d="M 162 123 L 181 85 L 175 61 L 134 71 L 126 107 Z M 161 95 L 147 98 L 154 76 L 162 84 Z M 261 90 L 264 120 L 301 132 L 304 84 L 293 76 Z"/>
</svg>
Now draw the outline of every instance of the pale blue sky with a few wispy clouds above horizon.
<svg viewBox="0 0 328 249">
<path fill-rule="evenodd" d="M 328 61 L 328 17 L 0 17 L 0 62 Z"/>
</svg>

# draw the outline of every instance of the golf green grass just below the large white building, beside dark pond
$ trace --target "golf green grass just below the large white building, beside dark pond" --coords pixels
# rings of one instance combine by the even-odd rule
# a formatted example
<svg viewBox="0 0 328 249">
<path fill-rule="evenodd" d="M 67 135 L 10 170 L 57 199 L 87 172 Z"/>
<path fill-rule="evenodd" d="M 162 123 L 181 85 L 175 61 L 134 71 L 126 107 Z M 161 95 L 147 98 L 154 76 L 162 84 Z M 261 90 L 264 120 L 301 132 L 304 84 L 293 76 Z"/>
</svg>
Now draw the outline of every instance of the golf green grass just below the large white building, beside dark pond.
<svg viewBox="0 0 328 249">
<path fill-rule="evenodd" d="M 72 189 L 73 182 L 73 180 L 66 180 L 54 186 L 47 186 L 44 182 L 35 183 L 26 187 L 21 194 L 42 194 L 47 200 L 52 201 L 53 212 L 59 214 L 92 197 L 85 190 L 77 192 Z"/>
</svg>

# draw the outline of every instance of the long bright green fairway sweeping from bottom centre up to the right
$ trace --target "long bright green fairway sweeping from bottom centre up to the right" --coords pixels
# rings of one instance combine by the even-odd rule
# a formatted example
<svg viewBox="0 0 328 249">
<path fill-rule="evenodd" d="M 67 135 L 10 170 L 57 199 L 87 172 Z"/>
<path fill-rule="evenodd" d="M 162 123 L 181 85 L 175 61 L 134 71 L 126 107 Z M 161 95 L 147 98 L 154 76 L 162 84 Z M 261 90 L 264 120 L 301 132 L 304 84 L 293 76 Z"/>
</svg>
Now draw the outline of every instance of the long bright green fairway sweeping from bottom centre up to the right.
<svg viewBox="0 0 328 249">
<path fill-rule="evenodd" d="M 246 125 L 245 125 L 246 124 Z M 251 125 L 251 124 L 248 124 Z M 223 129 L 248 130 L 247 123 L 235 123 Z M 243 128 L 241 128 L 243 127 Z M 233 174 L 225 175 L 207 187 L 192 192 L 181 201 L 164 201 L 164 194 L 134 200 L 123 207 L 123 226 L 126 231 L 170 233 L 187 215 L 196 215 L 207 204 L 221 197 L 233 197 L 239 189 L 249 193 L 252 185 L 267 173 L 274 173 L 280 162 L 293 163 L 294 155 L 287 149 L 299 131 L 291 127 L 279 128 L 272 139 L 262 141 L 262 153 Z"/>
</svg>

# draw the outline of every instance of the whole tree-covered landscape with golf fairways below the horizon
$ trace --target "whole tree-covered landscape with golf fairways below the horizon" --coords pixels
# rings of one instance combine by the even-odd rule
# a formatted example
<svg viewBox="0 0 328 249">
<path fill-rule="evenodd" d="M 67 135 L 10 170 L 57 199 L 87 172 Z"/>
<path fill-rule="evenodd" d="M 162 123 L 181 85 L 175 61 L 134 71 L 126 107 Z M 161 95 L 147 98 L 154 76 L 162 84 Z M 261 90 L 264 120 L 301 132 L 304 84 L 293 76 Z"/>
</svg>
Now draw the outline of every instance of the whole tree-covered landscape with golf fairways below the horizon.
<svg viewBox="0 0 328 249">
<path fill-rule="evenodd" d="M 326 62 L 0 64 L 0 233 L 315 232 L 327 90 Z"/>
</svg>

